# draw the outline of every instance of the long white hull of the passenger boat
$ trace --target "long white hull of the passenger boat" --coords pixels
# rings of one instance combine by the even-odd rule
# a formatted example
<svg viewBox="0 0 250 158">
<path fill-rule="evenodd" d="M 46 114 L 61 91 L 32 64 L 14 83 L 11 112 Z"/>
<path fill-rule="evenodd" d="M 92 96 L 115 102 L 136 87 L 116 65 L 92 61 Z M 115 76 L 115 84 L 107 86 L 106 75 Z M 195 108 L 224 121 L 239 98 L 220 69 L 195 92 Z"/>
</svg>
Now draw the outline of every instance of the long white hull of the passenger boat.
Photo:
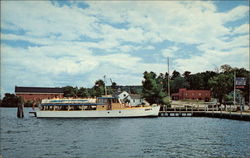
<svg viewBox="0 0 250 158">
<path fill-rule="evenodd" d="M 37 111 L 37 118 L 156 117 L 160 106 L 103 111 Z"/>
</svg>

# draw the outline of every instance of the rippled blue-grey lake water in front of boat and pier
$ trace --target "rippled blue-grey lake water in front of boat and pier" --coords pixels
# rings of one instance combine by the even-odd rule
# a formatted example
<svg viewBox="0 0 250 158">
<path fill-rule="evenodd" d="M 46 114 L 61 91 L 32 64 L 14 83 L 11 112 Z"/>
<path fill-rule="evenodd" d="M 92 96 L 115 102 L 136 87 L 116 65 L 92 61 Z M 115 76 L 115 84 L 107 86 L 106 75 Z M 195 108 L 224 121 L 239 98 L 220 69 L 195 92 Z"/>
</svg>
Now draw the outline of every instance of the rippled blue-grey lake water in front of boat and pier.
<svg viewBox="0 0 250 158">
<path fill-rule="evenodd" d="M 3 158 L 250 157 L 250 122 L 192 117 L 16 118 L 1 110 Z"/>
</svg>

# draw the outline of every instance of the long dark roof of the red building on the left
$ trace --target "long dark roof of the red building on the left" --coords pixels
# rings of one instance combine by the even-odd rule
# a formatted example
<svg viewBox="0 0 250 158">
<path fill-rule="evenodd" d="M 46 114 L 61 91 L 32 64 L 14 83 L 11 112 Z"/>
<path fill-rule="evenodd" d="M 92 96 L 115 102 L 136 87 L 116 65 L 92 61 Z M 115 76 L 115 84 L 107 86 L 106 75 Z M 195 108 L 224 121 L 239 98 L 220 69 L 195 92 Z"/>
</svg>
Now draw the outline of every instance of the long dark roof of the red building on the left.
<svg viewBox="0 0 250 158">
<path fill-rule="evenodd" d="M 15 92 L 25 93 L 63 93 L 63 88 L 54 87 L 15 87 Z"/>
</svg>

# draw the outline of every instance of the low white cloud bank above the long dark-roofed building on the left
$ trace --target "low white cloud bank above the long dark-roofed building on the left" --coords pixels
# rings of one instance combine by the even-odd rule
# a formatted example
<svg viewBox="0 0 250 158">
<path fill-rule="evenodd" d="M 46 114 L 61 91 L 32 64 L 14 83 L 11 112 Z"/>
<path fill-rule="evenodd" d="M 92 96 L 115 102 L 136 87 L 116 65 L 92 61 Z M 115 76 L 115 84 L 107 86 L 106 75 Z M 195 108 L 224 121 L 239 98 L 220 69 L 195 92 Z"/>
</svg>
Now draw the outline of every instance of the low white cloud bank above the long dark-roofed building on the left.
<svg viewBox="0 0 250 158">
<path fill-rule="evenodd" d="M 87 86 L 90 86 L 93 80 L 104 74 L 109 76 L 124 76 L 126 74 L 126 76 L 131 77 L 126 82 L 124 81 L 124 84 L 129 84 L 139 83 L 140 80 L 132 79 L 138 79 L 138 76 L 141 76 L 147 69 L 161 71 L 161 64 L 146 64 L 139 57 L 124 53 L 94 55 L 91 50 L 78 46 L 16 48 L 4 45 L 1 47 L 1 52 L 3 52 L 2 64 L 5 70 L 2 72 L 4 77 L 1 79 L 4 85 L 49 86 L 53 83 L 58 85 L 60 80 L 67 80 L 67 76 L 74 78 L 74 76 L 81 75 L 84 76 L 84 78 L 81 78 L 82 82 L 91 81 L 87 84 Z M 10 69 L 11 71 L 9 71 Z M 61 78 L 57 76 L 61 76 Z M 91 78 L 92 76 L 96 78 Z M 12 80 L 8 80 L 9 78 L 12 78 Z M 17 81 L 16 78 L 20 81 Z M 39 80 L 37 80 L 38 78 Z M 126 80 L 118 77 L 115 79 L 117 82 Z M 74 82 L 81 83 L 79 80 L 74 80 Z"/>
</svg>

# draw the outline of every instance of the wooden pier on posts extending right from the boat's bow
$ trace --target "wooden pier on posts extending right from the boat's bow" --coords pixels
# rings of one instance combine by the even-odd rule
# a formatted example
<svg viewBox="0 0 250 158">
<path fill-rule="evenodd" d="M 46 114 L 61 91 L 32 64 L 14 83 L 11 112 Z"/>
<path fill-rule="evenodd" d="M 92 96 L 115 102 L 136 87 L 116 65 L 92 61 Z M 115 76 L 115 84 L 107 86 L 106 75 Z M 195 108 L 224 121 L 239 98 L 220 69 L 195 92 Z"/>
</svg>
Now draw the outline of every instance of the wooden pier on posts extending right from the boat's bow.
<svg viewBox="0 0 250 158">
<path fill-rule="evenodd" d="M 233 111 L 232 109 L 222 110 L 218 107 L 171 107 L 159 112 L 160 117 L 212 117 L 234 120 L 250 121 L 250 112 Z"/>
</svg>

